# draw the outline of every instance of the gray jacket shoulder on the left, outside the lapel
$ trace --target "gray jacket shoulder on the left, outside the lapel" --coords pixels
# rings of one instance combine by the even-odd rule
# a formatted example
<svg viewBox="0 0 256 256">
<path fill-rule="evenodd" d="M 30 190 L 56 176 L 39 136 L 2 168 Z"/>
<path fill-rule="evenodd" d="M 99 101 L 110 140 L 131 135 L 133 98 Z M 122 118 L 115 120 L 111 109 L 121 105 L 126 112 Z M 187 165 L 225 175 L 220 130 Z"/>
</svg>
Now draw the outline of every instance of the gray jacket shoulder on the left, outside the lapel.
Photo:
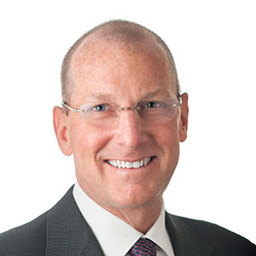
<svg viewBox="0 0 256 256">
<path fill-rule="evenodd" d="M 27 224 L 0 234 L 0 255 L 44 255 L 46 218 L 42 214 Z"/>
</svg>

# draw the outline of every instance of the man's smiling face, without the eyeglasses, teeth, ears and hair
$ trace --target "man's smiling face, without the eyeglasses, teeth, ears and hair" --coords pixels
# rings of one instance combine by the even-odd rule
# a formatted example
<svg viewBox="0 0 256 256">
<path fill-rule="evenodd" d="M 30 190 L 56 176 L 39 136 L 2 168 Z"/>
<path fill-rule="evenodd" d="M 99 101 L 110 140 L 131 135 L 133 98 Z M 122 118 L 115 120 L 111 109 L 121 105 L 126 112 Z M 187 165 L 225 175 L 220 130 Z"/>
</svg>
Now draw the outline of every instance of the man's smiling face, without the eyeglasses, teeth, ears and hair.
<svg viewBox="0 0 256 256">
<path fill-rule="evenodd" d="M 72 63 L 72 107 L 86 102 L 114 102 L 133 107 L 151 98 L 176 93 L 166 56 L 159 46 L 128 49 L 102 43 L 90 58 L 80 51 Z M 102 207 L 141 207 L 161 200 L 177 166 L 182 121 L 177 108 L 172 120 L 144 124 L 133 110 L 123 111 L 113 124 L 99 125 L 69 112 L 67 133 L 79 185 Z M 109 161 L 135 162 L 150 158 L 147 166 L 118 168 Z"/>
</svg>

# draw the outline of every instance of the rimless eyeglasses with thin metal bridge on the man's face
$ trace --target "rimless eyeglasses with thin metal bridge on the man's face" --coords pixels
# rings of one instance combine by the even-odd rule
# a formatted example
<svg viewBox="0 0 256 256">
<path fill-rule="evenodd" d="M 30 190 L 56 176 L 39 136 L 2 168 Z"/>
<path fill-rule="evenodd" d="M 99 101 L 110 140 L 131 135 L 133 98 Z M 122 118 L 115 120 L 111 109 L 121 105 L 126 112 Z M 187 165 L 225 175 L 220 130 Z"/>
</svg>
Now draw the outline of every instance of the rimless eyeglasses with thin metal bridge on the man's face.
<svg viewBox="0 0 256 256">
<path fill-rule="evenodd" d="M 181 97 L 179 97 L 181 99 Z M 113 124 L 121 111 L 134 110 L 137 116 L 145 123 L 162 123 L 172 120 L 176 114 L 177 107 L 181 102 L 172 98 L 163 98 L 158 100 L 147 100 L 137 102 L 134 107 L 119 107 L 115 103 L 89 102 L 83 104 L 80 108 L 72 108 L 66 102 L 62 106 L 69 110 L 80 113 L 83 119 L 90 119 L 90 122 L 102 125 Z"/>
</svg>

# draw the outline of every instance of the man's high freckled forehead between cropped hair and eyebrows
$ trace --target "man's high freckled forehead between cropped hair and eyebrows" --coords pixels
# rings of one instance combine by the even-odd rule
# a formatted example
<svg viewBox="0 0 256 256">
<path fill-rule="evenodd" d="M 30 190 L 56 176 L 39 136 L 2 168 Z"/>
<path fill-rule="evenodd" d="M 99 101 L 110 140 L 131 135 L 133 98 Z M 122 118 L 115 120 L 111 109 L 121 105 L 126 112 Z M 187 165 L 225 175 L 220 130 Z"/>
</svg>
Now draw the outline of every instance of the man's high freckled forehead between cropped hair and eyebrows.
<svg viewBox="0 0 256 256">
<path fill-rule="evenodd" d="M 113 92 L 132 95 L 136 90 L 143 96 L 154 90 L 174 90 L 166 52 L 152 40 L 90 38 L 73 55 L 71 69 L 76 101 Z"/>
</svg>

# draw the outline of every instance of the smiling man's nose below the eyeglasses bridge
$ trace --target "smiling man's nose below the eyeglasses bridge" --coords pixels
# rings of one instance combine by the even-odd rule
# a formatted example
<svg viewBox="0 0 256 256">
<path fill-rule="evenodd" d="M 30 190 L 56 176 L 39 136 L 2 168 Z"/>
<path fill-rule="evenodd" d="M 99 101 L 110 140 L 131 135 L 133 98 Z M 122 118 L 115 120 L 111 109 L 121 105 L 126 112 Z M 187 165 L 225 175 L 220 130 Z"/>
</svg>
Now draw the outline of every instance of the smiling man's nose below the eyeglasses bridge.
<svg viewBox="0 0 256 256">
<path fill-rule="evenodd" d="M 137 148 L 143 143 L 143 123 L 134 109 L 125 109 L 119 113 L 116 131 L 117 143 L 125 148 Z"/>
</svg>

